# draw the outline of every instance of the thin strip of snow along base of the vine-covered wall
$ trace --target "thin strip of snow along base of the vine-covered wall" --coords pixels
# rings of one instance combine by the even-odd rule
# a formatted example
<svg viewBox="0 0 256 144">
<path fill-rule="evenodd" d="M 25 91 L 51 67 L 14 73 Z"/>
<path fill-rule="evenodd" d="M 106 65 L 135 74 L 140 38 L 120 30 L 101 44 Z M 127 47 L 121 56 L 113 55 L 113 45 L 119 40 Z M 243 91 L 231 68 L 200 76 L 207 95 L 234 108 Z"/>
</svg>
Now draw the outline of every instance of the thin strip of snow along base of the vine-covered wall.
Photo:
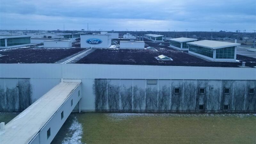
<svg viewBox="0 0 256 144">
<path fill-rule="evenodd" d="M 177 114 L 177 113 L 106 113 L 111 121 L 120 121 L 132 117 L 164 116 L 164 117 L 250 117 L 256 114 Z"/>
</svg>

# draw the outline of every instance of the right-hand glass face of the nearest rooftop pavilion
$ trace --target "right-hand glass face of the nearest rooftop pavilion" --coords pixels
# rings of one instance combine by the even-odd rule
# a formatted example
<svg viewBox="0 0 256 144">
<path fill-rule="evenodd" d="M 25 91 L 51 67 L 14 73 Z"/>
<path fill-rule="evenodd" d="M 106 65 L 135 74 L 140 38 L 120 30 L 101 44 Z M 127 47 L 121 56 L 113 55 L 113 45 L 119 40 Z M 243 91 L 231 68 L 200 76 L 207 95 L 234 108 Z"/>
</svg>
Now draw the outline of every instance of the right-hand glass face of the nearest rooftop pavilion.
<svg viewBox="0 0 256 144">
<path fill-rule="evenodd" d="M 216 59 L 234 59 L 235 46 L 216 49 Z"/>
</svg>

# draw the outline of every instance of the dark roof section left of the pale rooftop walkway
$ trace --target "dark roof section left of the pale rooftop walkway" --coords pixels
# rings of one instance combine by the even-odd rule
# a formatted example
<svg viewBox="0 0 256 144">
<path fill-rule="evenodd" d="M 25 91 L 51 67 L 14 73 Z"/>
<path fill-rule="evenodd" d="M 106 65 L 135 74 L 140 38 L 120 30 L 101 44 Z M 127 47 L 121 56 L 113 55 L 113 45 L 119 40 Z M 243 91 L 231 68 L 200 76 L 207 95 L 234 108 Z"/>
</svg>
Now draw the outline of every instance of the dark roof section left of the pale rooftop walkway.
<svg viewBox="0 0 256 144">
<path fill-rule="evenodd" d="M 14 48 L 0 50 L 0 63 L 55 63 L 83 48 Z"/>
</svg>

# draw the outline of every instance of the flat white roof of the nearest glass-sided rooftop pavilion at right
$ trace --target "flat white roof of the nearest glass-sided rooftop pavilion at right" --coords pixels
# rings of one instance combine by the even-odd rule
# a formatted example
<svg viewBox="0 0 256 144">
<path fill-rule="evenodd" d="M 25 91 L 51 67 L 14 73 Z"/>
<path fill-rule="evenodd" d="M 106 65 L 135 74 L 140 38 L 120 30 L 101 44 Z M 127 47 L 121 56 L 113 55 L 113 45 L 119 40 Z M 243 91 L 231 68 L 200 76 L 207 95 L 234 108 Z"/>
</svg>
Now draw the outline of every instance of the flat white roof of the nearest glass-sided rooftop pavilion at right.
<svg viewBox="0 0 256 144">
<path fill-rule="evenodd" d="M 202 47 L 206 47 L 206 48 L 210 48 L 210 49 L 219 49 L 219 48 L 224 48 L 224 47 L 239 46 L 239 45 L 241 45 L 241 44 L 237 44 L 237 43 L 210 41 L 210 40 L 202 40 L 202 41 L 189 42 L 187 44 L 196 45 L 196 46 L 202 46 Z"/>
</svg>

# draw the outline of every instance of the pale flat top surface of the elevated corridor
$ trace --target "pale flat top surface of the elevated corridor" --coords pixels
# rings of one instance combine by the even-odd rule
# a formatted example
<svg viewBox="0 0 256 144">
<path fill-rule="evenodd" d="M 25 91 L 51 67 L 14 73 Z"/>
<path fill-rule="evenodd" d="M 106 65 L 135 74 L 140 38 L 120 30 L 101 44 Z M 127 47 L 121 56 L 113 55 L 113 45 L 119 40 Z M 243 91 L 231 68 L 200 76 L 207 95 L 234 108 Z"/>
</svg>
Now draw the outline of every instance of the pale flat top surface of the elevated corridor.
<svg viewBox="0 0 256 144">
<path fill-rule="evenodd" d="M 60 82 L 53 87 L 5 125 L 0 131 L 0 144 L 28 143 L 80 84 Z"/>
</svg>

